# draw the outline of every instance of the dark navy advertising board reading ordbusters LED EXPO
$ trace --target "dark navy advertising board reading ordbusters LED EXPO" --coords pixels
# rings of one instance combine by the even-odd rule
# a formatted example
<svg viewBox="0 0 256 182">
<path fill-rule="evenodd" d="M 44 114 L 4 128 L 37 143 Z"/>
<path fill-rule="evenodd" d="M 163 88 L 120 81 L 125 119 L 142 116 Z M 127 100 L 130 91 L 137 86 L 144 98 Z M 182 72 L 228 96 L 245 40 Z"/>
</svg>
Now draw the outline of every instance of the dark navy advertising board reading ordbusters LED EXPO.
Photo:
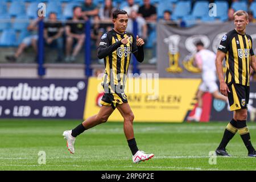
<svg viewBox="0 0 256 182">
<path fill-rule="evenodd" d="M 82 119 L 87 80 L 0 79 L 0 118 Z"/>
</svg>

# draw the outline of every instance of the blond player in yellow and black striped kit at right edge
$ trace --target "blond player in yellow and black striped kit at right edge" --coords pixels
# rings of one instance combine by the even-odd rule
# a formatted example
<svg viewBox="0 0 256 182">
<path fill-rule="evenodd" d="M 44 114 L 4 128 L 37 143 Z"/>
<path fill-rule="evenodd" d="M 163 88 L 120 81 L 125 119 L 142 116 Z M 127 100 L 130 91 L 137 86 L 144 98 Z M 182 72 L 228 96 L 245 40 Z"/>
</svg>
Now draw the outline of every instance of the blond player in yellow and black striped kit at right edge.
<svg viewBox="0 0 256 182">
<path fill-rule="evenodd" d="M 250 94 L 250 67 L 256 71 L 256 58 L 253 52 L 253 40 L 245 33 L 249 23 L 246 11 L 234 13 L 235 29 L 222 37 L 216 56 L 216 69 L 220 80 L 220 92 L 228 96 L 230 110 L 234 111 L 233 119 L 228 123 L 217 155 L 230 156 L 226 152 L 226 145 L 237 133 L 248 150 L 248 156 L 256 157 L 251 144 L 249 129 L 246 126 L 247 105 Z M 226 60 L 226 76 L 222 71 L 222 60 Z"/>
</svg>

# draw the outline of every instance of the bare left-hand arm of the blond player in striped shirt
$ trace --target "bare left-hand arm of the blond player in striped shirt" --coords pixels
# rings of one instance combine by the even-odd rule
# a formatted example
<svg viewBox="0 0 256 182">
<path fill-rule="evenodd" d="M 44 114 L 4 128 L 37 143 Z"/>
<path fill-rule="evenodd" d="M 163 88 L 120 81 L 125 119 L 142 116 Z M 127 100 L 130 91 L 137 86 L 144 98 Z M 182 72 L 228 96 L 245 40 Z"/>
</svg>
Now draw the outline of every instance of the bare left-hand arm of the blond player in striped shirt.
<svg viewBox="0 0 256 182">
<path fill-rule="evenodd" d="M 223 76 L 224 73 L 223 73 L 223 69 L 222 69 L 222 61 L 224 60 L 224 57 L 225 57 L 224 52 L 217 51 L 215 65 L 216 65 L 218 80 L 220 80 L 220 92 L 222 95 L 228 96 L 228 92 L 230 92 L 230 91 L 229 91 L 228 85 L 226 85 L 226 83 L 224 81 L 224 76 Z"/>
</svg>

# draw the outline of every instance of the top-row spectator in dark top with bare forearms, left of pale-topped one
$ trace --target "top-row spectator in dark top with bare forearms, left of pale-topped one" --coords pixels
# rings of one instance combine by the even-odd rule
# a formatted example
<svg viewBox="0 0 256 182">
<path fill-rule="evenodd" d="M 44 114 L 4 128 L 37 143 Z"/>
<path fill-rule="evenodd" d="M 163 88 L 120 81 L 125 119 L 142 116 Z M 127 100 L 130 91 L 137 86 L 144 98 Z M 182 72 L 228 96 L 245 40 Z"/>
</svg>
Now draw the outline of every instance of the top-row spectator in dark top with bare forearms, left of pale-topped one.
<svg viewBox="0 0 256 182">
<path fill-rule="evenodd" d="M 94 18 L 98 15 L 98 7 L 93 3 L 93 0 L 84 0 L 84 3 L 81 5 L 82 15 L 86 18 Z"/>
</svg>

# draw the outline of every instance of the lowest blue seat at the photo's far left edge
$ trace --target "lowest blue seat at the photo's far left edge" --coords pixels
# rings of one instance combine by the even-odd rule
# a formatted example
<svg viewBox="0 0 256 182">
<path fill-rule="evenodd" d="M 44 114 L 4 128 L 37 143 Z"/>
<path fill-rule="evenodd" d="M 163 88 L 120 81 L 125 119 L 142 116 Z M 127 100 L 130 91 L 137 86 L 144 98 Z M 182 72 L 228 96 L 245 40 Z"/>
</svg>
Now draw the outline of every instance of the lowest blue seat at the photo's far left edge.
<svg viewBox="0 0 256 182">
<path fill-rule="evenodd" d="M 0 46 L 14 46 L 16 42 L 16 33 L 13 29 L 6 29 L 0 37 Z"/>
</svg>

